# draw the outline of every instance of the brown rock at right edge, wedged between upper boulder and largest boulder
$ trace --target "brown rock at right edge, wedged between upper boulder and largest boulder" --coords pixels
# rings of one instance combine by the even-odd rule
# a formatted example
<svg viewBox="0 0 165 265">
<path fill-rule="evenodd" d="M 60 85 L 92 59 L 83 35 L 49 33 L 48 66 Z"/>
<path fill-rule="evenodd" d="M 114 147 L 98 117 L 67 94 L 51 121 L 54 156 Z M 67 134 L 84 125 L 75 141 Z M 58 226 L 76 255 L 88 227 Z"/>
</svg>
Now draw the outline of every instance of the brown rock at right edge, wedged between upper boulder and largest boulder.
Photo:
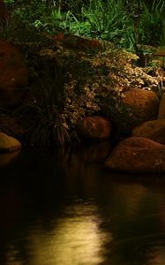
<svg viewBox="0 0 165 265">
<path fill-rule="evenodd" d="M 134 128 L 131 135 L 145 137 L 165 144 L 165 119 L 146 121 Z"/>
</svg>

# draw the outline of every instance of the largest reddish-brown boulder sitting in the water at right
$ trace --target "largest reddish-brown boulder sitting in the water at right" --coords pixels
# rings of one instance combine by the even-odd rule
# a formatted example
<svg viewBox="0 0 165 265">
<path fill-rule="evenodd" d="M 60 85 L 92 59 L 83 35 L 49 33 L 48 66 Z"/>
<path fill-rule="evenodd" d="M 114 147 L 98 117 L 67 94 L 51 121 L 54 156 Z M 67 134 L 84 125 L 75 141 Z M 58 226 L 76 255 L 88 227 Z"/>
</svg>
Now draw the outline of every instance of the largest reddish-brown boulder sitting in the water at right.
<svg viewBox="0 0 165 265">
<path fill-rule="evenodd" d="M 165 146 L 143 137 L 130 137 L 119 142 L 105 166 L 130 173 L 162 173 L 165 172 Z"/>
</svg>

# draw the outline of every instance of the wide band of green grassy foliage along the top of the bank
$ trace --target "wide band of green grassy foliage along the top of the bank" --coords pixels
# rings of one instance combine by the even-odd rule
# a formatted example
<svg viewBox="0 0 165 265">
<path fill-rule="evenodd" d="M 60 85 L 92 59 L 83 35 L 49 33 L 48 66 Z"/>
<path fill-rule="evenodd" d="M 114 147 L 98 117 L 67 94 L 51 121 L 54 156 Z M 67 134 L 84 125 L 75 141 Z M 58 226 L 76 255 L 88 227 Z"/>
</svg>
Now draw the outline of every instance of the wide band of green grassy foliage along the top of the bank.
<svg viewBox="0 0 165 265">
<path fill-rule="evenodd" d="M 79 34 L 115 42 L 136 51 L 138 44 L 160 45 L 164 42 L 165 4 L 163 0 L 63 0 L 14 1 L 13 23 L 26 23 L 49 34 Z M 10 4 L 11 3 L 11 4 Z"/>
</svg>

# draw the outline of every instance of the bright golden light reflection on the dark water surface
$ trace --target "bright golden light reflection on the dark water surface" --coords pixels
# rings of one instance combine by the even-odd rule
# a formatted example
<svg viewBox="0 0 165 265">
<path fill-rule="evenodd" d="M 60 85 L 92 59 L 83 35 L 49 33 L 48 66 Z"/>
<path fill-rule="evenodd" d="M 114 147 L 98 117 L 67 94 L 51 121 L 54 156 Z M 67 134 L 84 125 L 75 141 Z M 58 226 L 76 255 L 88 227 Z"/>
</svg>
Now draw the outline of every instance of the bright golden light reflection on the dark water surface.
<svg viewBox="0 0 165 265">
<path fill-rule="evenodd" d="M 101 231 L 100 223 L 94 205 L 65 208 L 51 231 L 32 231 L 28 241 L 34 253 L 28 264 L 101 264 L 104 244 L 112 237 Z"/>
</svg>

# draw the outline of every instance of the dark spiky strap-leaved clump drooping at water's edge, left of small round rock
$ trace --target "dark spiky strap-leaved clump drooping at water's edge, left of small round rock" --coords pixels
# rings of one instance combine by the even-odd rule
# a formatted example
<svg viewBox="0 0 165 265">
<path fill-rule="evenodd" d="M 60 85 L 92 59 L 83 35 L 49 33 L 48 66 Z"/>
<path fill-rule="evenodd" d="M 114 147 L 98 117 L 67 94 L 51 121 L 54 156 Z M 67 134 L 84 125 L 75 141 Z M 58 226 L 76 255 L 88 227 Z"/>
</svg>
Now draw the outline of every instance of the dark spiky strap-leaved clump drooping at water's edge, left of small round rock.
<svg viewBox="0 0 165 265">
<path fill-rule="evenodd" d="M 14 112 L 24 126 L 26 143 L 31 146 L 53 147 L 69 141 L 68 128 L 56 110 L 56 105 L 28 102 Z"/>
</svg>

